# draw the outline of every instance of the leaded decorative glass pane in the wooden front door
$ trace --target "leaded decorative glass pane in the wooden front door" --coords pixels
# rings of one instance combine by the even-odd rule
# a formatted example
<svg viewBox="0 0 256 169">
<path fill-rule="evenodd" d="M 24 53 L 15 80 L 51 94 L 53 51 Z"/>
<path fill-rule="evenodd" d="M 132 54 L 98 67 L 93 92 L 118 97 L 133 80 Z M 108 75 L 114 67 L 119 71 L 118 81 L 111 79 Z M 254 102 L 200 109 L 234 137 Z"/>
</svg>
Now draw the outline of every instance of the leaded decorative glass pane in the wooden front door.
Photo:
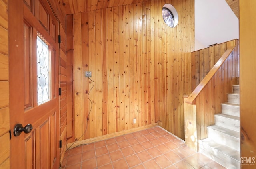
<svg viewBox="0 0 256 169">
<path fill-rule="evenodd" d="M 50 100 L 50 54 L 49 46 L 37 36 L 37 102 Z"/>
</svg>

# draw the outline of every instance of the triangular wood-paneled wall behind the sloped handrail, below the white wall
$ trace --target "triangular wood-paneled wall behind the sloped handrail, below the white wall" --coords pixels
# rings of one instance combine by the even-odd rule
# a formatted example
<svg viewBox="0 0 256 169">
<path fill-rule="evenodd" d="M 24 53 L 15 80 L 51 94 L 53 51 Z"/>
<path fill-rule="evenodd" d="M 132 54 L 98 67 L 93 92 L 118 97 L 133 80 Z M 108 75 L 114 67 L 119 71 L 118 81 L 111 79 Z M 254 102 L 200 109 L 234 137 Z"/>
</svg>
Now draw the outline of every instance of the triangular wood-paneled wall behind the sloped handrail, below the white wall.
<svg viewBox="0 0 256 169">
<path fill-rule="evenodd" d="M 204 79 L 207 73 L 212 69 L 215 63 L 220 59 L 223 53 L 227 50 L 227 47 L 232 46 L 238 42 L 237 39 L 232 41 L 227 41 L 224 43 L 220 43 L 218 45 L 214 45 L 205 49 L 201 49 L 198 51 L 194 51 L 191 54 L 191 69 L 192 69 L 192 90 L 199 85 L 199 83 Z M 238 47 L 239 54 L 239 47 Z M 239 60 L 238 57 L 234 57 L 236 60 L 236 66 L 234 69 L 238 69 L 239 71 Z M 234 80 L 234 79 L 233 79 Z M 230 86 L 230 84 L 229 84 Z"/>
</svg>

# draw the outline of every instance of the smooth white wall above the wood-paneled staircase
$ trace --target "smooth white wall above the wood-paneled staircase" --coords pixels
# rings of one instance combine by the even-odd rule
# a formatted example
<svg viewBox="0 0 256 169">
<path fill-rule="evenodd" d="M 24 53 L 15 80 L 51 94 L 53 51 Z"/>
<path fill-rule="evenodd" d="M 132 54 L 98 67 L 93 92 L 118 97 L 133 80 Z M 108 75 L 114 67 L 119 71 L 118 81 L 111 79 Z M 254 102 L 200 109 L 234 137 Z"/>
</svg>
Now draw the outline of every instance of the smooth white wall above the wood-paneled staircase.
<svg viewBox="0 0 256 169">
<path fill-rule="evenodd" d="M 239 21 L 225 0 L 195 0 L 195 50 L 239 39 Z"/>
</svg>

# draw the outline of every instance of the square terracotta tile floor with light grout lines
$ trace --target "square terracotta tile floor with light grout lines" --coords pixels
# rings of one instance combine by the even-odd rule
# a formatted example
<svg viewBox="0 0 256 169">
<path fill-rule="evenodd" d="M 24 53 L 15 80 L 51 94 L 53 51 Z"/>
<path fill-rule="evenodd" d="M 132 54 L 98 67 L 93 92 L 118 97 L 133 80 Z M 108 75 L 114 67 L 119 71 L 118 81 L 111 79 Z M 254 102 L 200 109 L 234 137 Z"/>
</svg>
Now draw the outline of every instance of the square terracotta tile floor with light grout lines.
<svg viewBox="0 0 256 169">
<path fill-rule="evenodd" d="M 66 152 L 63 169 L 225 169 L 157 126 Z"/>
</svg>

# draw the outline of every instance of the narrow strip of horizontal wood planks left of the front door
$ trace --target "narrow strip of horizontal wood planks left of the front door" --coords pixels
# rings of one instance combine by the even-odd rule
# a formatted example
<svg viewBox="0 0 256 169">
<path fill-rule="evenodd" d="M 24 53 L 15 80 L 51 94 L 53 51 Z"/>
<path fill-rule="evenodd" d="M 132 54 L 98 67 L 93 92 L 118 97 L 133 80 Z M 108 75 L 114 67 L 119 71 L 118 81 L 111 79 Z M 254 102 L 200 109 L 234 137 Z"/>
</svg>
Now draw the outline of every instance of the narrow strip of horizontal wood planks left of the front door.
<svg viewBox="0 0 256 169">
<path fill-rule="evenodd" d="M 0 168 L 10 168 L 8 0 L 0 0 Z"/>
</svg>

